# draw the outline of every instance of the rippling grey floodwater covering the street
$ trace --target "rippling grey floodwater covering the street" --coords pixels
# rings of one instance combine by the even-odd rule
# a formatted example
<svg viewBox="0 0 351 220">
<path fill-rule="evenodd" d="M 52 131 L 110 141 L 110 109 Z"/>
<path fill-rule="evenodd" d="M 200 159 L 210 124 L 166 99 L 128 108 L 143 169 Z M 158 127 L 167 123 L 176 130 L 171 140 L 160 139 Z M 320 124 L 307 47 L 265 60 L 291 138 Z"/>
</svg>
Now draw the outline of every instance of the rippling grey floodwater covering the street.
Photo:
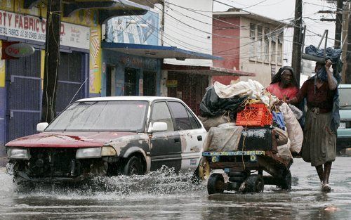
<svg viewBox="0 0 351 220">
<path fill-rule="evenodd" d="M 331 193 L 314 167 L 295 159 L 291 191 L 208 195 L 206 183 L 165 169 L 145 176 L 96 180 L 98 186 L 18 188 L 0 172 L 0 219 L 351 219 L 351 157 L 337 157 Z"/>
</svg>

